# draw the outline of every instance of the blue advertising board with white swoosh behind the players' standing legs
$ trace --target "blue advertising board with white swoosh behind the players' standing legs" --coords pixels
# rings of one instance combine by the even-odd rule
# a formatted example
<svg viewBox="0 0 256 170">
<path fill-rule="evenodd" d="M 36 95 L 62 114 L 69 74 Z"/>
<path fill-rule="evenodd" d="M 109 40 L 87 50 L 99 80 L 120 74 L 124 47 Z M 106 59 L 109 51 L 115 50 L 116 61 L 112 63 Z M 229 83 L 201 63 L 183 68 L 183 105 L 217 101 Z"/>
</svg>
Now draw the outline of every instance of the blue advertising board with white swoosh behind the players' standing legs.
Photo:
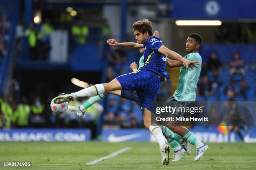
<svg viewBox="0 0 256 170">
<path fill-rule="evenodd" d="M 216 126 L 197 126 L 190 131 L 201 141 L 209 143 L 228 143 L 241 142 L 238 135 L 230 131 L 228 134 L 219 133 Z M 256 127 L 249 128 L 248 133 L 243 133 L 246 143 L 256 143 Z M 120 129 L 103 130 L 102 140 L 106 142 L 125 142 L 125 141 L 148 141 L 155 142 L 151 133 L 146 129 Z"/>
</svg>

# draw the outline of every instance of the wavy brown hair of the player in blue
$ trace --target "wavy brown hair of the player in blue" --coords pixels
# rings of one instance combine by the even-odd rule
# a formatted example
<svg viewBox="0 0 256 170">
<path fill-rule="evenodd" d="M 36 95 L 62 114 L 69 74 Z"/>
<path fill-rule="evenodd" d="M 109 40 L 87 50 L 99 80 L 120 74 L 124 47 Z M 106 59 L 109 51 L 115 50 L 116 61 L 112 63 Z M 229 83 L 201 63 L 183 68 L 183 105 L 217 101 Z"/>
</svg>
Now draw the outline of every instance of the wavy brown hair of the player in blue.
<svg viewBox="0 0 256 170">
<path fill-rule="evenodd" d="M 153 35 L 152 23 L 147 19 L 137 21 L 133 23 L 133 32 L 134 31 L 139 31 L 143 34 L 148 32 L 148 34 L 152 36 Z"/>
</svg>

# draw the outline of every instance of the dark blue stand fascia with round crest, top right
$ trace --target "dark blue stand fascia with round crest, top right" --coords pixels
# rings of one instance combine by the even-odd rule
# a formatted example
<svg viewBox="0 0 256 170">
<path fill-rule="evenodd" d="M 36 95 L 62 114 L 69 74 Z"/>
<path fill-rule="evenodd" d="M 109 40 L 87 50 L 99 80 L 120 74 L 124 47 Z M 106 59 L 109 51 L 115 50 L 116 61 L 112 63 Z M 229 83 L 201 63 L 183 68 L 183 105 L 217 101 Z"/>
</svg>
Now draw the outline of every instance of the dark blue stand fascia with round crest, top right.
<svg viewBox="0 0 256 170">
<path fill-rule="evenodd" d="M 172 0 L 172 18 L 256 18 L 255 0 Z"/>
</svg>

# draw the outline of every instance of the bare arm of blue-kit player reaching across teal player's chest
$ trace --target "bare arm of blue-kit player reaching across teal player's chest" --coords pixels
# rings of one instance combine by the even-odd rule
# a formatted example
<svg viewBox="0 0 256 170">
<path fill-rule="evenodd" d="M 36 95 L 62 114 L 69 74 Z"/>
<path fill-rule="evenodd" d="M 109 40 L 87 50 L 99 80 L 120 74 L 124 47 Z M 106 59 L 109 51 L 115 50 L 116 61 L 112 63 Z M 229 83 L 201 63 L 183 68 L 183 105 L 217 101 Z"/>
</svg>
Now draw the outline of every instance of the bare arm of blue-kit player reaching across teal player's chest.
<svg viewBox="0 0 256 170">
<path fill-rule="evenodd" d="M 159 49 L 158 49 L 159 52 L 161 52 L 162 54 L 166 55 L 166 56 L 170 56 L 170 57 L 173 57 L 175 60 L 178 60 L 178 61 L 181 61 L 184 63 L 184 65 L 186 66 L 186 68 L 189 67 L 189 65 L 191 65 L 192 63 L 197 63 L 199 64 L 198 61 L 189 61 L 189 60 L 186 60 L 184 59 L 181 55 L 179 55 L 178 53 L 172 51 L 172 50 L 169 50 L 168 48 L 166 48 L 164 45 L 162 45 Z"/>
</svg>

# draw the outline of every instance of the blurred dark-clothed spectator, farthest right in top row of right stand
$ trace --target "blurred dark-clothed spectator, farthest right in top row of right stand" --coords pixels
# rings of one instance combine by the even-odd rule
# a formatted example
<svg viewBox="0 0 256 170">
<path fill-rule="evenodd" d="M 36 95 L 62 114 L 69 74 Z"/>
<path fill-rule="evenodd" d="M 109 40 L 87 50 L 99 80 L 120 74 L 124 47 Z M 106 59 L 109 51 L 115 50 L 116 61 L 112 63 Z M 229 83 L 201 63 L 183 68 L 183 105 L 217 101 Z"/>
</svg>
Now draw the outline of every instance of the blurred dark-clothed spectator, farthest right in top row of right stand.
<svg viewBox="0 0 256 170">
<path fill-rule="evenodd" d="M 233 75 L 236 70 L 239 70 L 243 75 L 245 75 L 245 70 L 243 68 L 244 62 L 241 60 L 240 53 L 237 51 L 233 55 L 233 61 L 230 61 L 230 75 Z"/>
</svg>

